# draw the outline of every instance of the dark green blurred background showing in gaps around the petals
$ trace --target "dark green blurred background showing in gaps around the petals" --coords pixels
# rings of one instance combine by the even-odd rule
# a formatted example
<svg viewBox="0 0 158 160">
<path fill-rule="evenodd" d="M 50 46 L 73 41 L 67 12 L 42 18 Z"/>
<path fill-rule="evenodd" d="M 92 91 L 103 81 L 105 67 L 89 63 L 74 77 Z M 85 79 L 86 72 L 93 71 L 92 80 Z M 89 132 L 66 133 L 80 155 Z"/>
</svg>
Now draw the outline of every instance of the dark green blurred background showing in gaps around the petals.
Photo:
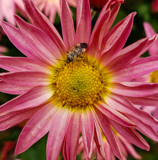
<svg viewBox="0 0 158 160">
<path fill-rule="evenodd" d="M 151 9 L 151 0 L 125 0 L 125 3 L 121 6 L 119 14 L 116 18 L 115 24 L 122 20 L 129 13 L 136 11 L 137 15 L 135 17 L 133 30 L 131 35 L 126 43 L 129 45 L 140 38 L 145 37 L 143 22 L 149 22 L 153 28 L 158 33 L 158 13 L 153 13 Z M 73 13 L 75 15 L 75 9 L 73 8 Z M 74 16 L 75 19 L 75 16 Z M 94 21 L 95 22 L 95 21 Z M 59 16 L 56 16 L 55 26 L 61 33 L 60 19 Z M 8 48 L 8 52 L 5 53 L 9 56 L 23 56 L 8 40 L 5 35 L 2 35 L 2 39 L 0 45 L 6 46 Z M 145 54 L 147 56 L 148 53 Z M 0 72 L 3 70 L 1 69 Z M 5 103 L 6 101 L 12 99 L 14 96 L 0 93 L 0 104 Z M 20 126 L 13 127 L 8 129 L 7 131 L 0 132 L 0 154 L 2 148 L 4 147 L 4 142 L 6 141 L 16 141 L 18 135 L 21 131 Z M 142 156 L 143 160 L 158 160 L 158 143 L 153 142 L 147 138 L 145 138 L 151 146 L 151 150 L 149 152 L 143 151 L 139 148 L 136 148 L 137 152 Z M 35 145 L 33 145 L 30 149 L 28 149 L 23 154 L 19 155 L 18 158 L 22 160 L 46 160 L 46 141 L 47 135 L 39 140 Z M 13 158 L 14 159 L 14 158 Z M 13 160 L 9 159 L 9 160 Z M 62 156 L 60 157 L 62 159 Z M 81 159 L 81 155 L 77 157 L 77 159 Z M 128 160 L 133 160 L 132 157 L 128 157 Z"/>
</svg>

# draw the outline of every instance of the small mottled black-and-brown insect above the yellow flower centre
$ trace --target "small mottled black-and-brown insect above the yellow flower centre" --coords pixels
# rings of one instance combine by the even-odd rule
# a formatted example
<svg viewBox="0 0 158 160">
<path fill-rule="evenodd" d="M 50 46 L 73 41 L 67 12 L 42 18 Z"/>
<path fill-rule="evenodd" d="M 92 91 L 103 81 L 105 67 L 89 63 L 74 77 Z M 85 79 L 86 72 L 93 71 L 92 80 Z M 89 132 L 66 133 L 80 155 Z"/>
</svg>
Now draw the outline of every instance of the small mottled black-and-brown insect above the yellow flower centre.
<svg viewBox="0 0 158 160">
<path fill-rule="evenodd" d="M 70 51 L 68 51 L 66 62 L 70 63 L 76 60 L 78 57 L 86 51 L 87 43 L 79 43 L 75 47 L 73 47 Z"/>
</svg>

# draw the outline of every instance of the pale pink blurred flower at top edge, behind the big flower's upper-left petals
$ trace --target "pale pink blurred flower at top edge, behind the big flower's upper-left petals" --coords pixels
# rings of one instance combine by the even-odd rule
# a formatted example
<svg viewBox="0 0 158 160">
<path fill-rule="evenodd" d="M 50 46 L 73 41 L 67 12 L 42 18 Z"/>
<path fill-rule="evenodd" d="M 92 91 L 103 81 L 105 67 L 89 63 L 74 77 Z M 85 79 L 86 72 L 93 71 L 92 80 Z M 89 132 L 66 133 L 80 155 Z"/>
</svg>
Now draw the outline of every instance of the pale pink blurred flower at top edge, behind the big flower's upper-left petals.
<svg viewBox="0 0 158 160">
<path fill-rule="evenodd" d="M 51 22 L 54 21 L 56 12 L 60 14 L 60 0 L 32 0 L 40 10 L 49 16 Z M 75 6 L 76 0 L 68 0 L 69 4 Z"/>
</svg>

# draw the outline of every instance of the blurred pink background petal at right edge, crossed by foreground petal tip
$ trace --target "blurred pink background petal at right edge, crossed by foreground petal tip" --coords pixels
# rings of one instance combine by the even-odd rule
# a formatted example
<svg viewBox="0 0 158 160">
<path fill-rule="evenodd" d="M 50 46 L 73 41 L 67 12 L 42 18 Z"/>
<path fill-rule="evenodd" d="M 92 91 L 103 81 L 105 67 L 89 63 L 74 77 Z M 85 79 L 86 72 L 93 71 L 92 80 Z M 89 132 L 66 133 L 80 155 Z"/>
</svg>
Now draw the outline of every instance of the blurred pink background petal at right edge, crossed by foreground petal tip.
<svg viewBox="0 0 158 160">
<path fill-rule="evenodd" d="M 152 26 L 147 22 L 144 23 L 144 29 L 146 36 L 149 38 L 156 34 Z M 151 56 L 158 55 L 158 41 L 150 47 L 149 53 Z"/>
</svg>

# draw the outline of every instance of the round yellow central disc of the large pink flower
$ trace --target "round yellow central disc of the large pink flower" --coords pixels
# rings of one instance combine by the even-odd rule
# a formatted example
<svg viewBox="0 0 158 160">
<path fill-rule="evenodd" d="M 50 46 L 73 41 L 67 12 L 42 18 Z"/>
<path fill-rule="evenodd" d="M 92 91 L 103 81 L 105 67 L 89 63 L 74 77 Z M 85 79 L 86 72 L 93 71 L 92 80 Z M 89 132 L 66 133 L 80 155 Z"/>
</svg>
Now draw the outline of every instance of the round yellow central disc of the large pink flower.
<svg viewBox="0 0 158 160">
<path fill-rule="evenodd" d="M 104 90 L 102 74 L 84 61 L 66 64 L 57 74 L 55 95 L 63 106 L 86 107 L 101 100 Z"/>
</svg>

